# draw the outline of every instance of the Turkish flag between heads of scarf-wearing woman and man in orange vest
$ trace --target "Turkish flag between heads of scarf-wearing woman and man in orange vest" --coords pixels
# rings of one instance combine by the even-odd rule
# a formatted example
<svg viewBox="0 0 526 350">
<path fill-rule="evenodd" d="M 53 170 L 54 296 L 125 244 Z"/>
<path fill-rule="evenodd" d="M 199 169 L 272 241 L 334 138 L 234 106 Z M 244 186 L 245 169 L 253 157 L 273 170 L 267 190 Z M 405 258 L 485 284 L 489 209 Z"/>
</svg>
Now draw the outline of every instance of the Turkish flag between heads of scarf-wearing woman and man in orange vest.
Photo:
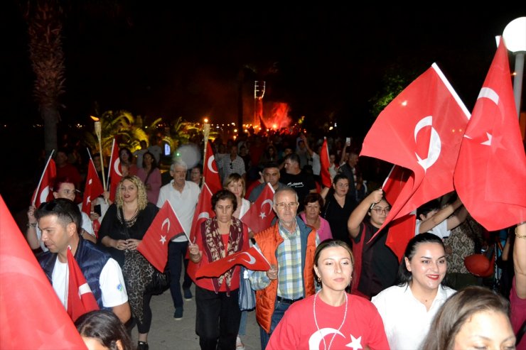
<svg viewBox="0 0 526 350">
<path fill-rule="evenodd" d="M 272 210 L 273 201 L 274 188 L 267 182 L 256 202 L 250 206 L 250 209 L 243 215 L 241 221 L 254 233 L 269 228 L 276 216 Z"/>
</svg>

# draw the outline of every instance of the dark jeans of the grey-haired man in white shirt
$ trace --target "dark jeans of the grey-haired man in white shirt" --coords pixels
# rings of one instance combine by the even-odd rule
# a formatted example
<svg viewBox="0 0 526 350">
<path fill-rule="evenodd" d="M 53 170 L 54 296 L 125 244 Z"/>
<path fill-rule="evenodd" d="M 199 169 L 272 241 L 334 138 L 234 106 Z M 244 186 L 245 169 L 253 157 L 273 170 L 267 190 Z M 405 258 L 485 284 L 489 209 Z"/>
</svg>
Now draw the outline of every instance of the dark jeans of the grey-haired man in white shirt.
<svg viewBox="0 0 526 350">
<path fill-rule="evenodd" d="M 170 267 L 170 292 L 173 300 L 173 307 L 183 307 L 183 295 L 181 293 L 181 268 L 184 262 L 184 280 L 183 289 L 189 289 L 192 285 L 192 279 L 186 273 L 188 268 L 188 259 L 186 259 L 186 251 L 188 249 L 188 241 L 172 242 L 168 244 L 168 266 Z"/>
</svg>

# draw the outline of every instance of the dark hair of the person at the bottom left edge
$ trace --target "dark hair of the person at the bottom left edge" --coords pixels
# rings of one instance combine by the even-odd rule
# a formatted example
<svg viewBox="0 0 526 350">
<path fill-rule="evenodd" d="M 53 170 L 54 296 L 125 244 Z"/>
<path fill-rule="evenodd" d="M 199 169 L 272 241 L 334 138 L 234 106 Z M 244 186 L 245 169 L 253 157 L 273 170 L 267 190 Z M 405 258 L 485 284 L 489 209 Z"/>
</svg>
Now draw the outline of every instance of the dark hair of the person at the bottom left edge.
<svg viewBox="0 0 526 350">
<path fill-rule="evenodd" d="M 75 326 L 82 337 L 95 338 L 110 350 L 119 350 L 117 341 L 120 341 L 122 350 L 134 349 L 126 327 L 109 310 L 87 312 L 75 321 Z"/>
</svg>

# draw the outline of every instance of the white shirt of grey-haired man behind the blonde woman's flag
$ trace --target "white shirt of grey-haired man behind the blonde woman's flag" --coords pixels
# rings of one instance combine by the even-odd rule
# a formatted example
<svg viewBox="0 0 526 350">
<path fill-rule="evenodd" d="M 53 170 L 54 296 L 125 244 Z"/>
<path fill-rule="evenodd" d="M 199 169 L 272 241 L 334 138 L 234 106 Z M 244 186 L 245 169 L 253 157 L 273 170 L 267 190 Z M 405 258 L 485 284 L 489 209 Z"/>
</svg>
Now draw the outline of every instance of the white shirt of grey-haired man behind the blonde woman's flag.
<svg viewBox="0 0 526 350">
<path fill-rule="evenodd" d="M 179 192 L 173 188 L 173 182 L 174 180 L 171 180 L 169 184 L 164 185 L 161 187 L 161 190 L 159 190 L 157 207 L 161 208 L 164 202 L 168 200 L 168 202 L 172 204 L 173 210 L 176 212 L 186 234 L 190 235 L 193 213 L 195 212 L 195 206 L 197 205 L 201 190 L 195 182 L 185 181 L 183 192 Z M 172 241 L 184 242 L 188 241 L 188 239 L 182 234 L 172 239 Z"/>
</svg>

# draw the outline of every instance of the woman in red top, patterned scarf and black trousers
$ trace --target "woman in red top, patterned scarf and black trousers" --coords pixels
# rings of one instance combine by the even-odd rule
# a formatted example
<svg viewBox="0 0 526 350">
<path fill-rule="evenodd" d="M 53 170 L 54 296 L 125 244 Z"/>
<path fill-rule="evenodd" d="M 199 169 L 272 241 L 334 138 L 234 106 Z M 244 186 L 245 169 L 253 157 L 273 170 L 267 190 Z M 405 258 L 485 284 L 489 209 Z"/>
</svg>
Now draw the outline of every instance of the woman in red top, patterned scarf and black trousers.
<svg viewBox="0 0 526 350">
<path fill-rule="evenodd" d="M 212 197 L 215 217 L 200 225 L 195 242 L 188 244 L 188 274 L 195 283 L 195 333 L 201 349 L 235 349 L 241 311 L 237 303 L 240 266 L 219 277 L 195 278 L 201 266 L 249 248 L 248 228 L 233 217 L 237 209 L 235 195 L 220 190 Z"/>
</svg>

